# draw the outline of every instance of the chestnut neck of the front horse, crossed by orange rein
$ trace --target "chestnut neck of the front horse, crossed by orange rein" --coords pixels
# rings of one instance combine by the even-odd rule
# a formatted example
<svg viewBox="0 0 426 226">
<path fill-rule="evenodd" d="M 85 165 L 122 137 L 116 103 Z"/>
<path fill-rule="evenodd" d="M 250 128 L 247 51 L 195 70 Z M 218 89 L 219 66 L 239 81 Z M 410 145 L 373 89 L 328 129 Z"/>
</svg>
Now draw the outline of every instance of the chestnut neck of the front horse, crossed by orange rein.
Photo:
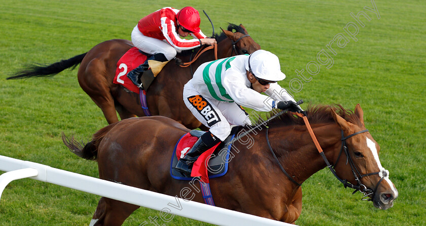
<svg viewBox="0 0 426 226">
<path fill-rule="evenodd" d="M 281 135 L 276 133 L 275 136 L 271 134 L 270 142 L 277 147 L 274 150 L 280 156 L 281 165 L 301 184 L 314 173 L 324 169 L 326 163 L 316 149 L 305 125 L 297 126 L 300 126 L 300 130 L 289 130 L 285 137 L 282 137 L 282 133 Z M 312 130 L 327 159 L 333 164 L 341 145 L 340 128 L 334 123 L 312 125 Z"/>
</svg>

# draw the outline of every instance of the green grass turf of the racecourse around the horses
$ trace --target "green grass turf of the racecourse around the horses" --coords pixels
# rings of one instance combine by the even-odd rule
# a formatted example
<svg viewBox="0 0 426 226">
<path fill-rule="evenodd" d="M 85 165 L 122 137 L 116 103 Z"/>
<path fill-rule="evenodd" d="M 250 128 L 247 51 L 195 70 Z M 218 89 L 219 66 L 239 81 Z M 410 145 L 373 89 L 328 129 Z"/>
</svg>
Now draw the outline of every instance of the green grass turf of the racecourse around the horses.
<svg viewBox="0 0 426 226">
<path fill-rule="evenodd" d="M 399 189 L 389 210 L 375 209 L 361 195 L 350 195 L 329 171 L 304 182 L 299 225 L 424 225 L 426 4 L 375 1 L 380 19 L 363 7 L 370 1 L 11 1 L 0 7 L 0 154 L 97 177 L 95 162 L 70 153 L 60 133 L 87 141 L 107 125 L 101 111 L 80 88 L 77 70 L 51 79 L 5 80 L 24 63 L 52 63 L 87 52 L 109 39 L 130 39 L 137 21 L 162 7 L 191 5 L 206 10 L 216 31 L 227 22 L 242 23 L 263 49 L 278 55 L 292 79 L 297 100 L 312 104 L 360 103 L 365 122 L 381 146 L 382 165 Z M 306 72 L 322 49 L 363 11 L 357 42 L 334 46 L 334 64 L 318 74 Z M 202 15 L 202 14 L 201 14 Z M 202 15 L 201 28 L 211 33 Z M 345 34 L 346 35 L 346 34 Z M 335 45 L 335 44 L 334 44 Z M 322 56 L 323 60 L 325 56 Z M 296 75 L 304 69 L 309 82 Z M 314 69 L 314 68 L 313 68 Z M 313 70 L 311 69 L 311 70 Z M 295 80 L 293 80 L 295 81 Z M 293 83 L 296 85 L 296 83 Z M 302 107 L 306 107 L 303 104 Z M 31 179 L 10 183 L 0 203 L 0 225 L 87 225 L 98 196 Z M 159 212 L 139 208 L 125 225 L 139 225 Z M 174 217 L 166 225 L 208 225 Z"/>
</svg>

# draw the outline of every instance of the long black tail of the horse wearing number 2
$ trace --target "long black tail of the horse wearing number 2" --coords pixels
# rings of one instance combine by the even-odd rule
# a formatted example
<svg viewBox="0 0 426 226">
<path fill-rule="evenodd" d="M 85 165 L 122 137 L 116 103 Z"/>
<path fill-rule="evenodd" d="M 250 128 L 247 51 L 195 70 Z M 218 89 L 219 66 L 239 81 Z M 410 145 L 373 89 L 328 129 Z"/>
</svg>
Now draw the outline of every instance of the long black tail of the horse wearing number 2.
<svg viewBox="0 0 426 226">
<path fill-rule="evenodd" d="M 67 68 L 71 68 L 71 70 L 74 70 L 81 63 L 81 61 L 83 60 L 84 56 L 86 56 L 86 54 L 87 52 L 74 56 L 69 59 L 63 59 L 61 61 L 52 63 L 50 65 L 41 64 L 41 63 L 28 64 L 25 69 L 14 73 L 13 76 L 8 77 L 6 79 L 24 79 L 29 77 L 52 77 Z"/>
</svg>

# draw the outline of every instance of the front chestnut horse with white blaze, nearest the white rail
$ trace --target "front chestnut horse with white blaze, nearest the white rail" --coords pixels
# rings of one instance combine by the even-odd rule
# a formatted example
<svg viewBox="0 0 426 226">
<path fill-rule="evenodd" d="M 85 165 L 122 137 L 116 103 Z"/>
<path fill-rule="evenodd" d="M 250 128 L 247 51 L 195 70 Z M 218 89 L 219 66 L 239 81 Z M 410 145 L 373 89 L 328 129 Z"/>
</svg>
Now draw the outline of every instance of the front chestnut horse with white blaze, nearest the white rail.
<svg viewBox="0 0 426 226">
<path fill-rule="evenodd" d="M 340 105 L 308 107 L 306 113 L 336 177 L 361 189 L 376 208 L 392 207 L 398 191 L 380 164 L 380 147 L 364 126 L 360 105 L 354 113 Z M 108 125 L 84 148 L 73 138 L 62 138 L 78 156 L 97 160 L 99 178 L 177 196 L 188 181 L 170 176 L 170 160 L 175 143 L 187 132 L 188 128 L 170 118 L 152 116 Z M 209 181 L 215 204 L 295 222 L 302 210 L 301 184 L 326 167 L 306 125 L 301 117 L 286 112 L 246 136 L 233 142 L 228 173 Z M 193 201 L 203 202 L 200 193 L 193 193 Z M 121 225 L 137 208 L 102 197 L 91 225 Z"/>
</svg>

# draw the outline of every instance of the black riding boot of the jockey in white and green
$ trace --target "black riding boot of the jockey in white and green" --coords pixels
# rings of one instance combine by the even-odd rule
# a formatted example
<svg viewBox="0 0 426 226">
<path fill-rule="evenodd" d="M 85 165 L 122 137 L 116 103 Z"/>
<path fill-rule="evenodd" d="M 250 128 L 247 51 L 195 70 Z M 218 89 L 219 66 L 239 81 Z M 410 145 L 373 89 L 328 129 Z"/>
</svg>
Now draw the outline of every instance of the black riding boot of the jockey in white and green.
<svg viewBox="0 0 426 226">
<path fill-rule="evenodd" d="M 204 151 L 208 150 L 211 147 L 208 147 L 201 138 L 195 142 L 194 146 L 188 151 L 185 157 L 179 159 L 175 169 L 185 176 L 191 176 L 191 168 L 198 156 L 200 156 Z"/>
</svg>

